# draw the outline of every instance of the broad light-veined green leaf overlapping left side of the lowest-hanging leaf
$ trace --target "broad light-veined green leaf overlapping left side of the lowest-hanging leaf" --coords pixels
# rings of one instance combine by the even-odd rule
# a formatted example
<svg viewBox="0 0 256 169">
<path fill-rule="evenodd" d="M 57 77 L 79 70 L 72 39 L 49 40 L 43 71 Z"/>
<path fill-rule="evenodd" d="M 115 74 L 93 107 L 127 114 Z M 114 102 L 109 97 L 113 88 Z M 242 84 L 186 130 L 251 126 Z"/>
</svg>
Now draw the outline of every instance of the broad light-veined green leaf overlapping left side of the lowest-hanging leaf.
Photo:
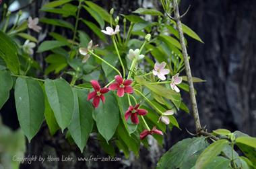
<svg viewBox="0 0 256 169">
<path fill-rule="evenodd" d="M 64 79 L 46 79 L 46 96 L 62 132 L 69 126 L 74 108 L 73 92 Z"/>
</svg>

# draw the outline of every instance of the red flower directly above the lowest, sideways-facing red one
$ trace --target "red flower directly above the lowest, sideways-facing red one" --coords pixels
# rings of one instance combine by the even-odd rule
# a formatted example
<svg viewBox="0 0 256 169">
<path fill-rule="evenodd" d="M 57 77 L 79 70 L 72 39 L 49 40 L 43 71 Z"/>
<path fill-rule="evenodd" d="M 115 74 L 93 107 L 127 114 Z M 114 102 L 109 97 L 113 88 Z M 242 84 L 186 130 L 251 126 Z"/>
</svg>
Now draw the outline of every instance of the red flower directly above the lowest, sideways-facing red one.
<svg viewBox="0 0 256 169">
<path fill-rule="evenodd" d="M 131 116 L 131 121 L 137 125 L 139 123 L 138 115 L 145 116 L 148 113 L 147 110 L 138 108 L 139 104 L 136 104 L 134 107 L 129 106 L 128 110 L 125 112 L 125 120 L 128 120 L 129 116 Z"/>
</svg>

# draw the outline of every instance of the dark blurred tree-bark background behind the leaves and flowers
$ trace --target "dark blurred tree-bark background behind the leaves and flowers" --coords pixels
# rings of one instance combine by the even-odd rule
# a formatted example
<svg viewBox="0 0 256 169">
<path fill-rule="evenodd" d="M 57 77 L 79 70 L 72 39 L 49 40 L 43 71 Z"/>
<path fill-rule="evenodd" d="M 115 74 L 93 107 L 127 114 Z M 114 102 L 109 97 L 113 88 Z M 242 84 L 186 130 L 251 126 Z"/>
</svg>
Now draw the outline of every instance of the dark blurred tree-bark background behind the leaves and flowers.
<svg viewBox="0 0 256 169">
<path fill-rule="evenodd" d="M 115 7 L 116 13 L 130 13 L 142 4 L 146 7 L 160 6 L 158 1 L 96 1 L 105 9 Z M 22 1 L 26 4 L 26 1 Z M 29 10 L 33 17 L 42 17 L 38 9 L 45 1 L 34 1 L 25 10 Z M 191 8 L 182 22 L 192 28 L 203 40 L 204 44 L 188 38 L 188 53 L 191 57 L 191 70 L 195 77 L 205 79 L 205 83 L 196 83 L 197 103 L 202 126 L 206 125 L 208 131 L 225 128 L 230 131 L 243 131 L 256 136 L 256 1 L 253 0 L 183 0 L 180 11 L 183 13 L 187 7 Z M 86 18 L 88 13 L 82 13 Z M 70 20 L 70 22 L 74 22 Z M 47 28 L 41 36 L 46 34 Z M 86 28 L 85 28 L 86 29 Z M 49 28 L 50 31 L 50 28 Z M 52 31 L 52 30 L 51 30 Z M 185 102 L 189 104 L 189 95 Z M 3 120 L 15 119 L 13 98 L 1 110 Z M 12 115 L 10 112 L 12 108 Z M 155 168 L 161 154 L 168 150 L 174 143 L 190 137 L 195 131 L 193 117 L 185 112 L 177 116 L 182 130 L 174 129 L 165 136 L 163 149 L 152 143 L 150 149 L 141 148 L 140 157 L 133 155 L 125 160 L 122 154 L 121 162 L 92 162 L 92 163 L 61 163 L 51 164 L 24 164 L 21 168 Z M 11 126 L 17 121 L 11 121 Z M 15 127 L 13 127 L 15 128 Z M 55 138 L 49 137 L 49 132 L 43 126 L 40 133 L 27 147 L 27 154 L 53 154 L 57 156 L 80 156 L 76 147 L 70 146 L 61 134 Z M 94 140 L 89 140 L 85 156 L 106 156 L 100 145 Z"/>
</svg>

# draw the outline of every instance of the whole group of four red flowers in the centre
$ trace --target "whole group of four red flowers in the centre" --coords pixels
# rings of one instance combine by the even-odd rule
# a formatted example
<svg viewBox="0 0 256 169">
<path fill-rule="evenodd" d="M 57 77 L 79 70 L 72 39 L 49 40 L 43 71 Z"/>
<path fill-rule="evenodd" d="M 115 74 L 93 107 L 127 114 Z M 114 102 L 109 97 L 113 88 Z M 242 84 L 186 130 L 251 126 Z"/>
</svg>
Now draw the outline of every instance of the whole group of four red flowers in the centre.
<svg viewBox="0 0 256 169">
<path fill-rule="evenodd" d="M 1 0 L 0 0 L 1 1 Z M 108 88 L 101 88 L 100 84 L 96 80 L 90 81 L 92 84 L 92 88 L 94 88 L 93 92 L 90 92 L 88 94 L 87 100 L 92 100 L 92 105 L 97 108 L 100 104 L 100 100 L 102 100 L 103 103 L 105 103 L 105 97 L 104 94 L 106 94 L 109 90 L 117 90 L 117 96 L 123 97 L 125 93 L 132 94 L 133 88 L 130 86 L 131 83 L 133 83 L 133 80 L 131 79 L 123 79 L 121 75 L 115 76 L 115 83 L 110 84 Z M 139 116 L 145 116 L 148 111 L 145 109 L 139 109 L 139 104 L 136 104 L 135 106 L 129 106 L 128 110 L 125 112 L 125 120 L 127 121 L 129 117 L 131 116 L 131 122 L 134 124 L 139 124 Z M 144 130 L 140 134 L 140 139 L 146 138 L 148 135 L 152 134 L 158 134 L 162 135 L 162 131 L 159 131 L 154 127 L 152 130 Z"/>
</svg>

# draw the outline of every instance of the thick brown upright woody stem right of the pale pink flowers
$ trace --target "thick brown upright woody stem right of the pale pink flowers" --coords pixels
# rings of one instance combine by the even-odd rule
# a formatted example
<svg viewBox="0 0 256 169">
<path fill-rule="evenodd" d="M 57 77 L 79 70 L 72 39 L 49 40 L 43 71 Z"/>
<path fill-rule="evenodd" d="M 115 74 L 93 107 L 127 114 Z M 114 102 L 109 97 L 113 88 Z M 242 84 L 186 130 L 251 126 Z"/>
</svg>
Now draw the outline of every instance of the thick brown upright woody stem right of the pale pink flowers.
<svg viewBox="0 0 256 169">
<path fill-rule="evenodd" d="M 199 134 L 201 132 L 201 123 L 200 123 L 200 119 L 199 119 L 197 100 L 195 98 L 195 90 L 194 90 L 194 86 L 193 86 L 192 74 L 191 74 L 191 69 L 190 69 L 190 65 L 189 65 L 189 57 L 187 54 L 187 48 L 186 48 L 185 38 L 184 38 L 183 29 L 182 29 L 182 25 L 181 25 L 181 16 L 179 13 L 179 6 L 177 3 L 177 0 L 173 0 L 172 5 L 174 7 L 174 17 L 175 17 L 174 19 L 177 23 L 177 30 L 179 32 L 179 37 L 180 37 L 180 42 L 181 42 L 181 50 L 183 53 L 183 58 L 184 58 L 184 63 L 185 63 L 187 81 L 189 83 L 189 95 L 190 95 L 190 100 L 191 100 L 191 104 L 192 104 L 193 118 L 195 121 L 195 129 L 196 129 L 197 134 Z"/>
</svg>

